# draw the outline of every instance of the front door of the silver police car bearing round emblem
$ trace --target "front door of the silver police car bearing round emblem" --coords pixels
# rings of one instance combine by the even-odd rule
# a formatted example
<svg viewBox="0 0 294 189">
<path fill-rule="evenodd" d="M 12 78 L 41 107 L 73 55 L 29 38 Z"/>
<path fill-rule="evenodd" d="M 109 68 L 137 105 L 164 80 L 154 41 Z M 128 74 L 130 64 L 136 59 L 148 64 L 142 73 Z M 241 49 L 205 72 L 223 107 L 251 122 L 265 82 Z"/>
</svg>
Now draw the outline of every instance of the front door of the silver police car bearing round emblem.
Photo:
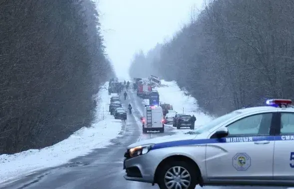
<svg viewBox="0 0 294 189">
<path fill-rule="evenodd" d="M 235 120 L 227 125 L 226 138 L 207 144 L 208 179 L 272 180 L 275 141 L 274 136 L 270 137 L 270 128 L 276 114 L 260 113 Z"/>
</svg>

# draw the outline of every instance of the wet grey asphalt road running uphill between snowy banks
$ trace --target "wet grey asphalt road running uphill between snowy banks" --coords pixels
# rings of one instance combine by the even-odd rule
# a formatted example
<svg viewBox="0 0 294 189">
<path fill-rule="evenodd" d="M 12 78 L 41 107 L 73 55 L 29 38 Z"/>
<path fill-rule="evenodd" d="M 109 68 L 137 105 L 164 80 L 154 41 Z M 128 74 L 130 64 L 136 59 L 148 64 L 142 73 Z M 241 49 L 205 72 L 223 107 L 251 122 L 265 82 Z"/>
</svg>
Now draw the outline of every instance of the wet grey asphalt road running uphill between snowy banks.
<svg viewBox="0 0 294 189">
<path fill-rule="evenodd" d="M 166 127 L 165 133 L 142 134 L 138 120 L 143 111 L 142 100 L 130 94 L 122 100 L 123 106 L 133 106 L 133 114 L 122 122 L 121 136 L 112 140 L 114 143 L 104 149 L 96 149 L 91 154 L 77 157 L 71 163 L 38 171 L 21 179 L 0 185 L 1 189 L 159 189 L 151 184 L 126 181 L 123 178 L 123 155 L 126 146 L 141 139 L 155 138 L 173 134 L 173 129 Z M 111 124 L 111 123 L 110 123 Z M 197 187 L 199 189 L 200 187 Z M 204 187 L 204 189 L 239 189 L 241 187 Z M 242 189 L 262 189 L 243 187 Z M 264 189 L 270 189 L 269 187 Z M 277 188 L 276 188 L 277 189 Z"/>
</svg>

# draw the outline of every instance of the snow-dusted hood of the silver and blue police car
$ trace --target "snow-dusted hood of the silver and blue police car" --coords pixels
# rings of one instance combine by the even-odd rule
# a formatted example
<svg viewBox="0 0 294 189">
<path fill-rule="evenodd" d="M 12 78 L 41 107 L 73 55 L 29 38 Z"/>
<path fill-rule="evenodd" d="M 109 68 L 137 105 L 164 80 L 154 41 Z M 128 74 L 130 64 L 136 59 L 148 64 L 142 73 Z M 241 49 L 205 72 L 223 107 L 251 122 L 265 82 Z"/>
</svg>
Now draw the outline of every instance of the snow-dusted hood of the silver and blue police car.
<svg viewBox="0 0 294 189">
<path fill-rule="evenodd" d="M 191 139 L 203 139 L 207 135 L 206 134 L 183 134 L 180 136 L 170 135 L 170 136 L 163 136 L 157 137 L 152 139 L 141 140 L 139 142 L 133 143 L 127 147 L 127 149 L 134 148 L 136 146 L 146 145 L 146 144 L 158 144 L 164 142 L 172 142 L 172 141 L 179 141 L 179 140 L 191 140 Z"/>
</svg>

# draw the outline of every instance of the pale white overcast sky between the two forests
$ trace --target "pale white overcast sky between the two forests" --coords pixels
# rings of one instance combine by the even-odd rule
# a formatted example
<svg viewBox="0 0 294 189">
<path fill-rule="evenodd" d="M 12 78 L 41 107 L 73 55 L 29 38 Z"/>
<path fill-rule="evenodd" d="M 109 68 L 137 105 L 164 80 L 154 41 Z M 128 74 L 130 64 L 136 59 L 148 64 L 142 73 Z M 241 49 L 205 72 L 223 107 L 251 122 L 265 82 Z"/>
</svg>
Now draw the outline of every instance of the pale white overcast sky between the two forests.
<svg viewBox="0 0 294 189">
<path fill-rule="evenodd" d="M 106 52 L 119 78 L 128 78 L 135 52 L 170 39 L 203 0 L 98 0 Z"/>
</svg>

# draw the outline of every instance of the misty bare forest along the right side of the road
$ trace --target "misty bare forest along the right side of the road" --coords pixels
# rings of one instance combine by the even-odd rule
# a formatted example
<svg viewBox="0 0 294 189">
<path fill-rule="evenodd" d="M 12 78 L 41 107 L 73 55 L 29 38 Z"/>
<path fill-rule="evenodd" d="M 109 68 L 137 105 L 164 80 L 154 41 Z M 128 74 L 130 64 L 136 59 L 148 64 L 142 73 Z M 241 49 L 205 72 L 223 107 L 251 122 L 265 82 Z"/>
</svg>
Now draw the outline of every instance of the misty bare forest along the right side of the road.
<svg viewBox="0 0 294 189">
<path fill-rule="evenodd" d="M 139 64 L 151 67 L 144 74 L 175 80 L 216 115 L 266 98 L 293 99 L 293 9 L 293 0 L 205 2 L 196 19 L 151 50 L 155 56 L 137 53 L 130 75 Z"/>
</svg>

